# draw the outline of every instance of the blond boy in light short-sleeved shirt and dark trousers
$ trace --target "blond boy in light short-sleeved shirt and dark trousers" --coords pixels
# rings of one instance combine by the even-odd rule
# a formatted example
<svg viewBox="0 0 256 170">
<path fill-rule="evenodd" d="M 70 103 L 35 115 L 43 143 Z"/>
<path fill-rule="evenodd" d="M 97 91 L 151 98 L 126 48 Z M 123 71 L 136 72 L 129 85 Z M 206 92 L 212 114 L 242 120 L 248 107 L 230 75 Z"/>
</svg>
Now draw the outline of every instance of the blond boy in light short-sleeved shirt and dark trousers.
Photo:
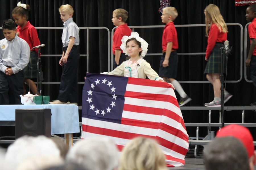
<svg viewBox="0 0 256 170">
<path fill-rule="evenodd" d="M 62 43 L 64 51 L 59 65 L 63 66 L 61 83 L 59 86 L 59 96 L 57 100 L 50 104 L 75 104 L 78 102 L 77 92 L 77 67 L 79 61 L 79 28 L 73 21 L 74 10 L 71 5 L 61 5 L 59 8 L 60 18 L 63 22 L 64 29 L 62 33 Z"/>
</svg>

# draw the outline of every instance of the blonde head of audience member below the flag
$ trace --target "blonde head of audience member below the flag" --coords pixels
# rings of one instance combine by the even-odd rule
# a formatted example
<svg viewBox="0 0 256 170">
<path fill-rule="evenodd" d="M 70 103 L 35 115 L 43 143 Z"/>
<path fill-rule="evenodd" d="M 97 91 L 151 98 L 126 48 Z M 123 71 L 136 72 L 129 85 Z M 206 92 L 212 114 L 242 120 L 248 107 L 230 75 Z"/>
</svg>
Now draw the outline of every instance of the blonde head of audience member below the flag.
<svg viewBox="0 0 256 170">
<path fill-rule="evenodd" d="M 119 170 L 166 170 L 165 156 L 158 144 L 145 137 L 136 137 L 123 148 Z"/>
</svg>

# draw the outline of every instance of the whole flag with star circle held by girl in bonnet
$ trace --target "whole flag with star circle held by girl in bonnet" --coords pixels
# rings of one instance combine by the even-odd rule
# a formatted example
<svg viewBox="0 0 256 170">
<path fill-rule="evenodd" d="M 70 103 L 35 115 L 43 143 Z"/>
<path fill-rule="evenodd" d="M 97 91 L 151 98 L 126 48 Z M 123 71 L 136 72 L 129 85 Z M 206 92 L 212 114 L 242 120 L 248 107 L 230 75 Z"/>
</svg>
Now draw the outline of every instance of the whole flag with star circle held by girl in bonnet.
<svg viewBox="0 0 256 170">
<path fill-rule="evenodd" d="M 119 150 L 134 137 L 155 139 L 169 166 L 185 164 L 188 135 L 168 83 L 87 73 L 82 92 L 82 139 L 105 136 Z"/>
</svg>

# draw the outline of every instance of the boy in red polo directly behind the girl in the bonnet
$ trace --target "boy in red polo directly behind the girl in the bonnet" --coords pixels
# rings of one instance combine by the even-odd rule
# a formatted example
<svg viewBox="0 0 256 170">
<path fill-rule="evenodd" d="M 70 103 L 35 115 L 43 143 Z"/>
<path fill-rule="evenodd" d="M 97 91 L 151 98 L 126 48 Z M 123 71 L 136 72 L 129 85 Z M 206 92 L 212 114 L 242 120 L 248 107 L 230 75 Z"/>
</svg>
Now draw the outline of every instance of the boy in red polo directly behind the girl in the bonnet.
<svg viewBox="0 0 256 170">
<path fill-rule="evenodd" d="M 126 61 L 125 53 L 121 50 L 120 46 L 122 44 L 121 39 L 123 36 L 130 36 L 131 35 L 131 29 L 127 26 L 125 23 L 128 18 L 128 12 L 124 9 L 115 9 L 113 11 L 113 18 L 112 22 L 115 26 L 118 26 L 115 29 L 114 35 L 113 35 L 113 46 L 112 51 L 114 55 L 114 69 L 119 66 L 123 61 Z"/>
</svg>

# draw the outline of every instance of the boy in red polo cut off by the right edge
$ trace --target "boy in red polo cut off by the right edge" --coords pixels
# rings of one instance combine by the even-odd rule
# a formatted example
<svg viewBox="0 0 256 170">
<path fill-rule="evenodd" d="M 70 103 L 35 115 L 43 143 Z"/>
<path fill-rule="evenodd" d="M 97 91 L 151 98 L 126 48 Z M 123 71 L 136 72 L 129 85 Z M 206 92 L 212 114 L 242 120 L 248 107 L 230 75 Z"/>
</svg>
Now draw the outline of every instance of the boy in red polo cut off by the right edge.
<svg viewBox="0 0 256 170">
<path fill-rule="evenodd" d="M 251 39 L 251 45 L 247 59 L 245 61 L 246 67 L 250 67 L 250 76 L 253 85 L 256 87 L 256 4 L 250 5 L 246 9 L 246 20 L 251 22 L 248 25 L 248 33 Z M 251 103 L 251 106 L 256 106 L 256 102 Z"/>
</svg>

